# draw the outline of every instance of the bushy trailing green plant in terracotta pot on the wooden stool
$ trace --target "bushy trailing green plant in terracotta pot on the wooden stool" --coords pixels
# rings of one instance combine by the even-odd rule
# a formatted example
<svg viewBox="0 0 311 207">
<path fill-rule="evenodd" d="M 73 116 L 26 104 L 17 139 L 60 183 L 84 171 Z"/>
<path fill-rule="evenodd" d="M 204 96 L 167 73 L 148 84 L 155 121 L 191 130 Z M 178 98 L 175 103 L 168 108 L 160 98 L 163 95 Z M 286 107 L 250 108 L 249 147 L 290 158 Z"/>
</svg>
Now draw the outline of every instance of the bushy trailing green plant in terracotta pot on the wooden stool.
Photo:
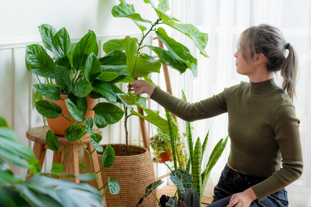
<svg viewBox="0 0 311 207">
<path fill-rule="evenodd" d="M 59 148 L 55 134 L 64 136 L 70 144 L 89 133 L 93 147 L 106 155 L 102 165 L 109 167 L 114 161 L 113 148 L 108 146 L 104 151 L 99 145 L 102 137 L 92 127 L 95 124 L 104 128 L 118 122 L 124 115 L 116 105 L 117 102 L 123 103 L 119 95 L 123 92 L 114 83 L 127 81 L 129 77 L 125 53 L 112 51 L 98 58 L 96 36 L 90 30 L 77 43 L 71 42 L 65 28 L 57 31 L 49 24 L 42 24 L 39 31 L 44 46 L 54 57 L 50 57 L 41 45 L 33 44 L 26 47 L 25 61 L 27 68 L 38 77 L 39 83 L 33 85 L 37 99 L 35 107 L 44 119 L 48 119 L 51 128 L 46 134 L 47 144 L 53 151 L 65 153 L 63 162 L 53 163 L 51 171 L 62 173 L 65 170 L 63 164 L 69 151 L 69 147 L 67 150 Z M 97 98 L 104 98 L 106 102 L 95 105 L 94 99 Z M 53 126 L 50 122 L 54 119 L 60 125 Z M 83 148 L 89 157 L 94 152 Z M 96 173 L 99 172 L 93 172 Z M 108 179 L 108 184 L 116 186 L 113 194 L 118 193 L 116 180 Z"/>
</svg>

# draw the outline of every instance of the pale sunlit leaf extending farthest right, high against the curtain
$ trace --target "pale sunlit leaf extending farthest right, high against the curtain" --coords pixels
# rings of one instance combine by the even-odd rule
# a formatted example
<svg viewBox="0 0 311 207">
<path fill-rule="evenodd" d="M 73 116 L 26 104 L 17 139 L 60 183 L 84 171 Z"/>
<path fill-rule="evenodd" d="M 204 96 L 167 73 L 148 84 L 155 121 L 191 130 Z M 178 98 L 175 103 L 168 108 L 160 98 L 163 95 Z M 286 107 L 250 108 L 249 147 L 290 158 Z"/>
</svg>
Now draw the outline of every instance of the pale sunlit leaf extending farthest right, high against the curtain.
<svg viewBox="0 0 311 207">
<path fill-rule="evenodd" d="M 201 51 L 200 53 L 206 58 L 209 57 L 204 50 L 208 42 L 207 33 L 201 32 L 192 24 L 179 24 L 172 20 L 163 20 L 163 23 L 174 29 L 177 29 L 178 31 L 190 37 L 193 40 L 194 44 L 197 46 L 197 48 Z"/>
</svg>

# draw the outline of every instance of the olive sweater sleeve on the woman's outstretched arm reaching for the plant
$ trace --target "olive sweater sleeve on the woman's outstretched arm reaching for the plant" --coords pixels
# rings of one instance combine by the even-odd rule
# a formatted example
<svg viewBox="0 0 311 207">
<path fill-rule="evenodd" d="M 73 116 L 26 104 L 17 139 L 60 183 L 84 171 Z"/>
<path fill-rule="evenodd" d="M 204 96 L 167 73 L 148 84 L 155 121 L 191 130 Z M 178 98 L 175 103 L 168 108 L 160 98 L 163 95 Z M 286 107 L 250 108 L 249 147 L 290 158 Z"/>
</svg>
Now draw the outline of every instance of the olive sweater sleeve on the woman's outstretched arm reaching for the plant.
<svg viewBox="0 0 311 207">
<path fill-rule="evenodd" d="M 196 103 L 186 103 L 165 91 L 155 88 L 150 98 L 159 103 L 162 107 L 175 114 L 185 121 L 196 121 L 211 118 L 227 112 L 226 97 L 236 86 L 225 88 L 225 90 L 213 97 L 204 99 Z M 229 91 L 228 91 L 229 90 Z"/>
</svg>

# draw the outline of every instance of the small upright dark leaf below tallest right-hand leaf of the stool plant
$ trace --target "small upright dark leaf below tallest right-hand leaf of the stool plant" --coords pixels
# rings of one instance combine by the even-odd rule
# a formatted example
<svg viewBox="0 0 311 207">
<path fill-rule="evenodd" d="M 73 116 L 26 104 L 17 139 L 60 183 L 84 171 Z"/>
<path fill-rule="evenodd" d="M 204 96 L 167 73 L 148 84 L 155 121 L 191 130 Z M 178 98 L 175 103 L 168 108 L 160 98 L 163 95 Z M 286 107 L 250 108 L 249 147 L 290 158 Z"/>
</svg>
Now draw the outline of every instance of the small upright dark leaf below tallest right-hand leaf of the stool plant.
<svg viewBox="0 0 311 207">
<path fill-rule="evenodd" d="M 94 53 L 91 53 L 85 62 L 85 79 L 90 83 L 101 73 L 100 62 Z"/>
</svg>

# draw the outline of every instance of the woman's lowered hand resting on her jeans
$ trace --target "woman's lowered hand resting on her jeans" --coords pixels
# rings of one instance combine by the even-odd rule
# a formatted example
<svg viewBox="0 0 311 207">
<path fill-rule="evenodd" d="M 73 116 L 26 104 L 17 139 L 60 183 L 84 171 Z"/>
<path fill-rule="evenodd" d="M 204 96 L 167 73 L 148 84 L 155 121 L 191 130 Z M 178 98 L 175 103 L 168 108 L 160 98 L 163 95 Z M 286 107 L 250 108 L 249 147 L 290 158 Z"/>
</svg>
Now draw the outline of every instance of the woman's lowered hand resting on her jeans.
<svg viewBox="0 0 311 207">
<path fill-rule="evenodd" d="M 249 207 L 257 199 L 253 189 L 248 188 L 245 191 L 233 194 L 227 207 Z"/>
</svg>

